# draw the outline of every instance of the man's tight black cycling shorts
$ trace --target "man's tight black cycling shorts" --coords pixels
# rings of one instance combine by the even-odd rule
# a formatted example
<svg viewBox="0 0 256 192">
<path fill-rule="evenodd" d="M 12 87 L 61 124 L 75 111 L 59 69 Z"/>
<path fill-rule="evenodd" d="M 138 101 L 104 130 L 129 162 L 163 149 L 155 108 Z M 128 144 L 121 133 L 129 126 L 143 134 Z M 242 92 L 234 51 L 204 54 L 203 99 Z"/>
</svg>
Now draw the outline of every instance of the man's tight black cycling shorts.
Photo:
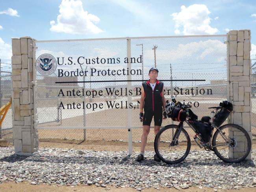
<svg viewBox="0 0 256 192">
<path fill-rule="evenodd" d="M 163 120 L 163 111 L 145 111 L 143 116 L 143 126 L 150 126 L 154 116 L 155 126 L 161 126 Z"/>
</svg>

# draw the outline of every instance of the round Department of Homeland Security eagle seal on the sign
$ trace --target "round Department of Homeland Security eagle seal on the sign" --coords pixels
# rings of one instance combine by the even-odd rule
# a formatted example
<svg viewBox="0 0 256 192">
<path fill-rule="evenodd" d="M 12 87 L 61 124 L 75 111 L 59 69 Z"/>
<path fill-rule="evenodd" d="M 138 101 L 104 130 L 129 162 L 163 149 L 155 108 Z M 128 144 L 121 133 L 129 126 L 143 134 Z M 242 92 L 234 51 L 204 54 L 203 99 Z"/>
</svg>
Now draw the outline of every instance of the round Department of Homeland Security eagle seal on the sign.
<svg viewBox="0 0 256 192">
<path fill-rule="evenodd" d="M 37 71 L 42 75 L 50 75 L 57 68 L 57 62 L 54 56 L 50 54 L 43 54 L 37 58 L 36 61 Z"/>
</svg>

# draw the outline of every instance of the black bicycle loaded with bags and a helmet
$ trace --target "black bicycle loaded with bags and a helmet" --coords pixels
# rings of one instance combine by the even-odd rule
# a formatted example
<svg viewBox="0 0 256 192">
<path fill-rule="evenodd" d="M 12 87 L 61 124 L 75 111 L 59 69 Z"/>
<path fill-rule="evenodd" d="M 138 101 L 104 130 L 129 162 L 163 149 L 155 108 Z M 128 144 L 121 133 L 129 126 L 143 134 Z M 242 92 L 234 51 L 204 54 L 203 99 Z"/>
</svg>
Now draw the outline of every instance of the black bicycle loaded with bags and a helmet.
<svg viewBox="0 0 256 192">
<path fill-rule="evenodd" d="M 190 105 L 177 102 L 175 98 L 166 103 L 168 117 L 180 123 L 165 126 L 156 135 L 154 149 L 161 161 L 179 163 L 189 154 L 191 140 L 183 127 L 184 122 L 195 132 L 194 140 L 198 146 L 214 151 L 224 162 L 241 162 L 249 155 L 251 140 L 247 131 L 236 124 L 221 126 L 233 110 L 232 103 L 223 101 L 219 107 L 209 107 L 213 109 L 210 116 L 203 116 L 201 120 L 190 108 Z"/>
</svg>

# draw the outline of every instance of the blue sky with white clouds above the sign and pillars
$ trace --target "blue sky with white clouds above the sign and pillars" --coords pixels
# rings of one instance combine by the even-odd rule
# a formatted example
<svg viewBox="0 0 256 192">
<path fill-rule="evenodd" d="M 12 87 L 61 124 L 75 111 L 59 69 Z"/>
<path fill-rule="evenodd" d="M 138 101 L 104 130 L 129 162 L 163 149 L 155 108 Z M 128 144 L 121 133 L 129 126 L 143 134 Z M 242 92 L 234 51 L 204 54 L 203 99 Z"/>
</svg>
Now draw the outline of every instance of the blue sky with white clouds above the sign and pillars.
<svg viewBox="0 0 256 192">
<path fill-rule="evenodd" d="M 251 30 L 253 0 L 0 0 L 0 58 L 10 62 L 11 38 L 37 40 L 226 34 Z M 254 35 L 255 34 L 255 35 Z"/>
</svg>

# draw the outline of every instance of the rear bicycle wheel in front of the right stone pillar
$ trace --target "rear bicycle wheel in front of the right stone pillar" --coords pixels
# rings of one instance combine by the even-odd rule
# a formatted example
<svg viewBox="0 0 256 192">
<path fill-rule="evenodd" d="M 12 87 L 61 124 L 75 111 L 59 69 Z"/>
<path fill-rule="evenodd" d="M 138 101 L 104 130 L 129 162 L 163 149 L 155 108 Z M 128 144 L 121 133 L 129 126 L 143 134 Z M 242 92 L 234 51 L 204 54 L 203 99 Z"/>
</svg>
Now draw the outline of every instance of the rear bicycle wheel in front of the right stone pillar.
<svg viewBox="0 0 256 192">
<path fill-rule="evenodd" d="M 226 124 L 214 133 L 212 145 L 213 151 L 222 161 L 237 163 L 249 155 L 252 142 L 243 127 Z"/>
</svg>

